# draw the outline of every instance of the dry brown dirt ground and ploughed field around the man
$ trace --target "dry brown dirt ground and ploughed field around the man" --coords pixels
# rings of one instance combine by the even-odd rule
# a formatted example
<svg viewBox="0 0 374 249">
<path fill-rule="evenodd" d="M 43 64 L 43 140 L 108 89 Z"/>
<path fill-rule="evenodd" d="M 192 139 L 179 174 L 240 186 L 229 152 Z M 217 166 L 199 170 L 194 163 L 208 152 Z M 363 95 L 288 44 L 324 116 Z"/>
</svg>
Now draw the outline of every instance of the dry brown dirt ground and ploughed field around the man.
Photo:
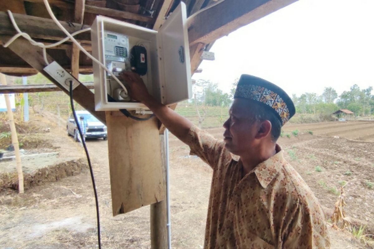
<svg viewBox="0 0 374 249">
<path fill-rule="evenodd" d="M 286 159 L 301 174 L 331 215 L 339 182 L 346 181 L 346 215 L 374 233 L 374 122 L 287 125 L 298 136 L 282 137 Z M 208 130 L 221 139 L 223 128 Z M 312 131 L 313 135 L 308 131 Z M 62 128 L 51 127 L 48 141 L 59 157 L 83 158 L 82 147 Z M 362 140 L 362 141 L 356 141 Z M 99 196 L 102 248 L 150 248 L 150 209 L 112 217 L 107 141 L 89 140 Z M 188 156 L 186 145 L 170 137 L 171 228 L 173 248 L 202 248 L 211 169 Z M 316 171 L 319 166 L 321 171 Z M 344 174 L 350 171 L 351 174 Z M 332 248 L 368 248 L 347 231 L 330 229 Z M 92 183 L 79 175 L 28 189 L 0 192 L 0 248 L 97 248 Z"/>
</svg>

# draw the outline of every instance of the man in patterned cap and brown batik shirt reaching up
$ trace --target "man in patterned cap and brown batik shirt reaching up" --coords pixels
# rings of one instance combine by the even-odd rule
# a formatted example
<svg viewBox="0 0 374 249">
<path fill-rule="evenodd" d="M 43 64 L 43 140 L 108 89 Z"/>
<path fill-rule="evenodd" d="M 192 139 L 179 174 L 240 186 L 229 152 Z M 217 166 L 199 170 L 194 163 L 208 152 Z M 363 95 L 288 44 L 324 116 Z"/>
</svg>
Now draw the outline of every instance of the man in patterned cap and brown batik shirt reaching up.
<svg viewBox="0 0 374 249">
<path fill-rule="evenodd" d="M 133 99 L 213 169 L 204 248 L 329 247 L 318 200 L 276 144 L 295 113 L 281 88 L 242 75 L 220 142 L 157 102 L 137 74 L 125 72 L 122 79 Z"/>
</svg>

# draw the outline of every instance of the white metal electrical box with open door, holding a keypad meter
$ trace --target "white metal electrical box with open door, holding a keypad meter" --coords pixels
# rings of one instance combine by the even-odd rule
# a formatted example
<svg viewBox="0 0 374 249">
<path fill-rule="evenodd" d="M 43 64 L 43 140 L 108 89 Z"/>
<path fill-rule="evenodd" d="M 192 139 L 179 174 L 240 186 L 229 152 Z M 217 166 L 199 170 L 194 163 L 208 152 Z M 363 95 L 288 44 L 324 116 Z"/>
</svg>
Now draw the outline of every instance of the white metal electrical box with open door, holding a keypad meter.
<svg viewBox="0 0 374 249">
<path fill-rule="evenodd" d="M 91 40 L 96 59 L 114 75 L 123 70 L 141 71 L 148 92 L 163 104 L 191 98 L 187 14 L 183 2 L 159 31 L 97 16 L 91 27 Z M 129 100 L 120 84 L 95 62 L 93 77 L 96 111 L 148 109 Z"/>
</svg>

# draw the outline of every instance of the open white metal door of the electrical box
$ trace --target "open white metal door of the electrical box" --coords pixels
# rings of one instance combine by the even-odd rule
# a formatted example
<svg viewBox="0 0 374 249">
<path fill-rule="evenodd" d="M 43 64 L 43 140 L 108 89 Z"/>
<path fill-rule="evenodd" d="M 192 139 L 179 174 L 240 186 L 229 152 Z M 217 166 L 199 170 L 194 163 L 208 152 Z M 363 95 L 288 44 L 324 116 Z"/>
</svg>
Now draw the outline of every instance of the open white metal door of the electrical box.
<svg viewBox="0 0 374 249">
<path fill-rule="evenodd" d="M 161 101 L 165 105 L 192 97 L 186 5 L 181 2 L 157 34 Z"/>
</svg>

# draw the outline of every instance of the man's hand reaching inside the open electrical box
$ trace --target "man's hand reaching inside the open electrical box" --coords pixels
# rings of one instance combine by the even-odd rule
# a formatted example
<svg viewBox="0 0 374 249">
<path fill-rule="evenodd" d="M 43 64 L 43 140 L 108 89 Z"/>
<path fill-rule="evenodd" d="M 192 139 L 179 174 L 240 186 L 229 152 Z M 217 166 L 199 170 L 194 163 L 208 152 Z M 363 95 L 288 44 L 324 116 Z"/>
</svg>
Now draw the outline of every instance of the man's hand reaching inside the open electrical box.
<svg viewBox="0 0 374 249">
<path fill-rule="evenodd" d="M 134 72 L 123 71 L 120 75 L 120 79 L 126 83 L 129 96 L 137 101 L 145 102 L 149 99 L 150 94 L 148 93 L 147 87 L 140 78 L 140 76 Z"/>
</svg>

